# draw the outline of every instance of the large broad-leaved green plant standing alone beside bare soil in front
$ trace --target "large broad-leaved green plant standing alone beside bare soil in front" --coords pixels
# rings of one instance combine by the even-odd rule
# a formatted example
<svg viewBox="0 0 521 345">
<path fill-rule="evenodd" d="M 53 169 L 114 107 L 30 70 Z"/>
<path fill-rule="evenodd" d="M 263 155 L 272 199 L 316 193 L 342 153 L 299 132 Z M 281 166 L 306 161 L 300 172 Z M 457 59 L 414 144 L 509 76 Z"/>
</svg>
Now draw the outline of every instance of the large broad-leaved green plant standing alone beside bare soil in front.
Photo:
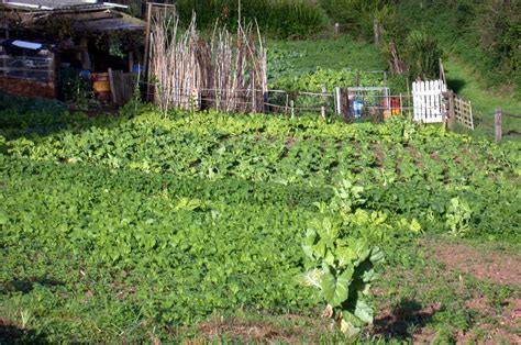
<svg viewBox="0 0 521 345">
<path fill-rule="evenodd" d="M 303 275 L 303 281 L 317 288 L 328 303 L 324 316 L 335 320 L 342 332 L 354 335 L 373 322 L 367 296 L 376 279 L 374 265 L 381 263 L 384 255 L 377 247 L 343 235 L 329 219 L 308 230 L 302 247 L 314 268 Z"/>
</svg>

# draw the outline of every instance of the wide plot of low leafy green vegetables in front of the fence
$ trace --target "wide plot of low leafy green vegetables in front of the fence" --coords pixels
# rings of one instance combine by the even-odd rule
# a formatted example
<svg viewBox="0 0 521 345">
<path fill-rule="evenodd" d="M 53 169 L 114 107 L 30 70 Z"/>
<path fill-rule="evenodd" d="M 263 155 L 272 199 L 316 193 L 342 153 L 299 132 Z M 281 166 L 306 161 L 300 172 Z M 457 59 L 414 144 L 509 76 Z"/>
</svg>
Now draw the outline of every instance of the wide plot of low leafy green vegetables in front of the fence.
<svg viewBox="0 0 521 345">
<path fill-rule="evenodd" d="M 406 299 L 442 301 L 423 326 L 453 340 L 487 320 L 462 309 L 466 293 L 499 311 L 519 298 L 468 275 L 467 292 L 400 278 L 452 279 L 425 264 L 425 238 L 519 249 L 516 143 L 404 119 L 137 103 L 118 118 L 30 114 L 0 127 L 2 342 L 215 340 L 206 326 L 237 318 L 293 330 L 295 342 L 399 341 L 409 333 L 379 332 L 378 320 Z"/>
</svg>

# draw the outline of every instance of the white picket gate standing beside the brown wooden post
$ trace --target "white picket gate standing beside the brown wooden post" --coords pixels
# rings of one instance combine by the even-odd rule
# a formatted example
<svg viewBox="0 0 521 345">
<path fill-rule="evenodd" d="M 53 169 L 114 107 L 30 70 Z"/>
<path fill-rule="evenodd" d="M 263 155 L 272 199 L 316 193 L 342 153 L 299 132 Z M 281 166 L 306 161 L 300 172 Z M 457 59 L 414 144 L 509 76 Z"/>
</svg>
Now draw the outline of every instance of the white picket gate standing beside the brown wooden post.
<svg viewBox="0 0 521 345">
<path fill-rule="evenodd" d="M 442 92 L 447 86 L 442 80 L 425 80 L 412 82 L 413 119 L 418 122 L 443 122 L 445 104 Z"/>
</svg>

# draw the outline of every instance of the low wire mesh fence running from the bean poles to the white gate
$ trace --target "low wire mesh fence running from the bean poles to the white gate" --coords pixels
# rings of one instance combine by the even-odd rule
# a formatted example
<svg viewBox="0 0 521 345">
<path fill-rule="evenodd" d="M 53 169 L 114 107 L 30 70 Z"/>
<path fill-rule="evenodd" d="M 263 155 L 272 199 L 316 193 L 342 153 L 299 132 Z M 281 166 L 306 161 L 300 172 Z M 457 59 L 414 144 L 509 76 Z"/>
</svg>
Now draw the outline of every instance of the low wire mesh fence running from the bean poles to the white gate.
<svg viewBox="0 0 521 345">
<path fill-rule="evenodd" d="M 146 98 L 157 102 L 164 89 L 155 84 L 142 82 L 148 90 Z M 393 115 L 412 119 L 414 112 L 411 93 L 391 94 L 388 88 L 336 88 L 333 92 L 308 92 L 253 89 L 169 89 L 176 99 L 170 109 L 191 111 L 218 110 L 237 113 L 265 113 L 287 116 L 314 114 L 339 116 L 347 123 L 383 122 Z M 164 96 L 163 96 L 164 98 Z"/>
</svg>

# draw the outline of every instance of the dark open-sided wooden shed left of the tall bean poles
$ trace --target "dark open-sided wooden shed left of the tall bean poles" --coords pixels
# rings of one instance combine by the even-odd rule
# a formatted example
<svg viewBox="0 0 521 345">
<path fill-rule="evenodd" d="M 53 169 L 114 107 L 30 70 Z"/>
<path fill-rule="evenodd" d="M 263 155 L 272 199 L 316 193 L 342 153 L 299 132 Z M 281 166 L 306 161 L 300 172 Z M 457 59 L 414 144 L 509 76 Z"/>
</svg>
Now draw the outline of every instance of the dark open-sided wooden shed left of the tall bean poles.
<svg viewBox="0 0 521 345">
<path fill-rule="evenodd" d="M 126 14 L 124 5 L 97 0 L 0 1 L 0 90 L 63 98 L 66 75 L 141 70 L 145 23 Z"/>
</svg>

